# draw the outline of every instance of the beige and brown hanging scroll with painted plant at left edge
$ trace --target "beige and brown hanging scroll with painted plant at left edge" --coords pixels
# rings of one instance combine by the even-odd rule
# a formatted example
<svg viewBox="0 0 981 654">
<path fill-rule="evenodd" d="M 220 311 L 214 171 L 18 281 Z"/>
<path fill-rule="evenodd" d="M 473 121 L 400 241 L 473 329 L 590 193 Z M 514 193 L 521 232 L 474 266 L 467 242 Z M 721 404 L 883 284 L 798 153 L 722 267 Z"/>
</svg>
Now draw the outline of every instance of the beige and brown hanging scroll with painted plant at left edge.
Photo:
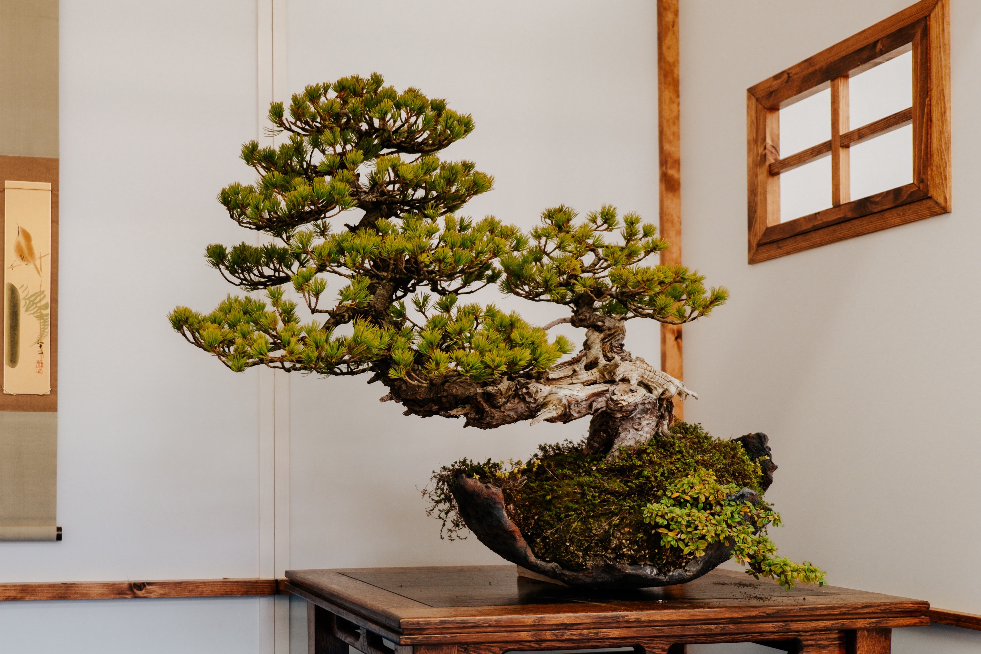
<svg viewBox="0 0 981 654">
<path fill-rule="evenodd" d="M 61 540 L 58 0 L 0 0 L 0 556 Z"/>
</svg>

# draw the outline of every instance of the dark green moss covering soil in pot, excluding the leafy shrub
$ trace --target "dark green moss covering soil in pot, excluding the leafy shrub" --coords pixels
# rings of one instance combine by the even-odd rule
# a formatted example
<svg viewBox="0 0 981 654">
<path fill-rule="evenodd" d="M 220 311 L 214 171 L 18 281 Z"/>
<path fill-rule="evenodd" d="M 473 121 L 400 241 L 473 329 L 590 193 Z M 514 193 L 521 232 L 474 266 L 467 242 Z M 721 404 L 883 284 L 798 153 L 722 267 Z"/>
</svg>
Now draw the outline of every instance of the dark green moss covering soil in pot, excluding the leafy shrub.
<svg viewBox="0 0 981 654">
<path fill-rule="evenodd" d="M 431 515 L 443 520 L 452 538 L 465 526 L 450 488 L 460 474 L 499 486 L 507 514 L 536 556 L 566 570 L 582 571 L 616 561 L 661 570 L 684 566 L 692 555 L 663 547 L 656 525 L 644 522 L 643 508 L 665 488 L 699 469 L 720 484 L 759 491 L 759 465 L 737 441 L 712 437 L 700 425 L 676 422 L 672 437 L 654 437 L 614 461 L 583 454 L 583 443 L 541 445 L 528 462 L 457 461 L 434 475 L 425 492 Z"/>
</svg>

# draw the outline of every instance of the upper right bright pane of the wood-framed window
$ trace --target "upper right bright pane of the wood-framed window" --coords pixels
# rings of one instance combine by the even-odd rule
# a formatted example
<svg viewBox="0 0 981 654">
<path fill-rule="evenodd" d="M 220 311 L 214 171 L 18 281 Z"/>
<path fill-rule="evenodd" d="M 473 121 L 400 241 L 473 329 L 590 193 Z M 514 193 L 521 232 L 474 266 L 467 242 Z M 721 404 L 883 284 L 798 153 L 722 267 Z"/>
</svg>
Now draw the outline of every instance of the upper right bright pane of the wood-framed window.
<svg viewBox="0 0 981 654">
<path fill-rule="evenodd" d="M 913 54 L 907 52 L 849 79 L 852 129 L 912 106 L 912 65 Z"/>
</svg>

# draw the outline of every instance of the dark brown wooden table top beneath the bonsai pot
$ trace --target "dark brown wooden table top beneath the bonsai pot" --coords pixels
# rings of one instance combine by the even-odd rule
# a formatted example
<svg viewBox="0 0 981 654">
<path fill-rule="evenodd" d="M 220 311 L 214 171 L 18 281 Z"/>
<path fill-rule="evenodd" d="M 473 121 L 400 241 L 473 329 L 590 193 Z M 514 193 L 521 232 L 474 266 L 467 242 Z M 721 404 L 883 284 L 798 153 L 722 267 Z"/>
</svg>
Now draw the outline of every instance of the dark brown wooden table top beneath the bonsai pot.
<svg viewBox="0 0 981 654">
<path fill-rule="evenodd" d="M 720 621 L 826 622 L 834 629 L 928 624 L 928 602 L 802 584 L 791 590 L 745 573 L 714 570 L 689 583 L 634 590 L 570 588 L 508 566 L 287 571 L 289 589 L 381 633 L 507 629 L 662 628 Z M 400 638 L 405 642 L 404 638 Z"/>
</svg>

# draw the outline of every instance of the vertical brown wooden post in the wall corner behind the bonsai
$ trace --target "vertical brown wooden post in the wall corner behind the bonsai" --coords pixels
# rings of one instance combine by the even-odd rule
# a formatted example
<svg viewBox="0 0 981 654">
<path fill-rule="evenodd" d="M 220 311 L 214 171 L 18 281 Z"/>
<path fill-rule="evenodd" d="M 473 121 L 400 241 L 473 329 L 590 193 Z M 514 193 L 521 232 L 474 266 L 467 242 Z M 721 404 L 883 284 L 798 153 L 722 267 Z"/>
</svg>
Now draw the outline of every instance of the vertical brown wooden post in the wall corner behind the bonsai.
<svg viewBox="0 0 981 654">
<path fill-rule="evenodd" d="M 661 263 L 680 266 L 681 242 L 681 73 L 679 68 L 678 0 L 657 0 L 657 160 L 660 234 L 669 248 Z M 685 378 L 682 327 L 661 325 L 661 370 Z M 684 419 L 681 398 L 675 417 Z"/>
</svg>

